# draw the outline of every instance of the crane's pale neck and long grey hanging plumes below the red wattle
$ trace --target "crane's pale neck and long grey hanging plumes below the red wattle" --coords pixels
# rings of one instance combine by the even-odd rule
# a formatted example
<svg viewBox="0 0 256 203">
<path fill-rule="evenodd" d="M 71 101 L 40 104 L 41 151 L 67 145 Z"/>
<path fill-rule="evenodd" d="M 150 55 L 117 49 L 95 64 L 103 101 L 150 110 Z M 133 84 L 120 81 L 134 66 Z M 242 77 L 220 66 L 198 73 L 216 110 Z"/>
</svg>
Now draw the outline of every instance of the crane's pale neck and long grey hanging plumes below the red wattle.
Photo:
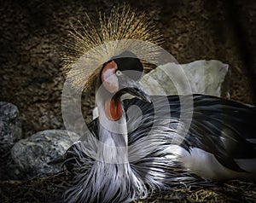
<svg viewBox="0 0 256 203">
<path fill-rule="evenodd" d="M 118 120 L 108 119 L 106 105 L 114 106 L 119 111 Z M 114 102 L 114 101 L 112 101 Z M 134 174 L 129 163 L 128 133 L 125 112 L 121 101 L 111 104 L 111 98 L 100 102 L 98 133 L 101 146 L 97 148 L 99 161 L 96 161 L 91 175 L 98 180 L 96 194 L 102 202 L 130 202 L 137 197 L 145 198 L 147 188 L 143 181 Z M 89 184 L 91 185 L 91 184 Z M 129 193 L 127 193 L 129 191 Z"/>
</svg>

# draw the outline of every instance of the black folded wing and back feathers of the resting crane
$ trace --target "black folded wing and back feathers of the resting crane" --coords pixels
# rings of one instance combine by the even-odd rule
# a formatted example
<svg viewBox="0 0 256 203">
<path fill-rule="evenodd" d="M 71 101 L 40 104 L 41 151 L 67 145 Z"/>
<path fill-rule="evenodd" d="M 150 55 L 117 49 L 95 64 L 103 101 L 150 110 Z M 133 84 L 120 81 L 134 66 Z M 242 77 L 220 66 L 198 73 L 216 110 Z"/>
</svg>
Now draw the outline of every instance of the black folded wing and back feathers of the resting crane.
<svg viewBox="0 0 256 203">
<path fill-rule="evenodd" d="M 140 107 L 144 116 L 147 116 L 148 125 L 145 131 L 150 131 L 153 125 L 154 114 L 168 114 L 172 122 L 183 122 L 180 119 L 180 98 L 189 99 L 189 96 L 167 96 L 168 103 L 163 102 L 166 96 L 152 96 L 152 103 L 145 103 L 136 98 L 124 101 L 125 109 L 132 105 Z M 188 135 L 181 146 L 189 151 L 190 148 L 201 148 L 211 154 L 225 167 L 233 171 L 243 171 L 236 164 L 235 159 L 256 158 L 256 107 L 232 102 L 216 96 L 194 95 L 193 108 L 183 108 L 183 113 L 192 113 Z M 169 105 L 166 107 L 166 105 Z M 165 112 L 168 109 L 169 112 Z M 128 119 L 129 121 L 129 119 Z M 184 121 L 186 122 L 186 121 Z M 172 125 L 172 127 L 175 125 Z"/>
</svg>

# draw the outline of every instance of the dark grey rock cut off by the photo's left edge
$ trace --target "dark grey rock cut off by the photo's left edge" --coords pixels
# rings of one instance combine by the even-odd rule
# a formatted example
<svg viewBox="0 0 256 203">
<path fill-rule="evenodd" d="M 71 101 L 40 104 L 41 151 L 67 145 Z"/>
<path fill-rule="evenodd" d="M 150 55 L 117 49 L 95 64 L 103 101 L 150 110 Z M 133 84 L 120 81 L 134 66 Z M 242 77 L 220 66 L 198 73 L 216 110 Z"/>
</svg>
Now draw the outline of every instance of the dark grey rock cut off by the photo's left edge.
<svg viewBox="0 0 256 203">
<path fill-rule="evenodd" d="M 7 165 L 10 150 L 21 138 L 21 123 L 18 108 L 8 102 L 0 102 L 0 179 L 8 179 Z"/>
</svg>

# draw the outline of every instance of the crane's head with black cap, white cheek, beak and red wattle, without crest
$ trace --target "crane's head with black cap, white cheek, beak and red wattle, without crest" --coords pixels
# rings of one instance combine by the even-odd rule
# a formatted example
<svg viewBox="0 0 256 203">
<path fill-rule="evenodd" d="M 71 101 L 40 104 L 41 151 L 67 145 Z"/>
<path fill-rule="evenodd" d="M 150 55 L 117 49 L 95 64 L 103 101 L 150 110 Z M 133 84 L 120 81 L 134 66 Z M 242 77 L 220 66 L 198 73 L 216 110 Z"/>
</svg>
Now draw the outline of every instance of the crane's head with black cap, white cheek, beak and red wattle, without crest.
<svg viewBox="0 0 256 203">
<path fill-rule="evenodd" d="M 125 51 L 106 62 L 100 73 L 100 82 L 108 92 L 105 102 L 105 114 L 110 120 L 118 120 L 123 108 L 121 96 L 130 94 L 144 102 L 150 102 L 148 94 L 138 83 L 143 74 L 143 64 L 136 55 Z"/>
</svg>

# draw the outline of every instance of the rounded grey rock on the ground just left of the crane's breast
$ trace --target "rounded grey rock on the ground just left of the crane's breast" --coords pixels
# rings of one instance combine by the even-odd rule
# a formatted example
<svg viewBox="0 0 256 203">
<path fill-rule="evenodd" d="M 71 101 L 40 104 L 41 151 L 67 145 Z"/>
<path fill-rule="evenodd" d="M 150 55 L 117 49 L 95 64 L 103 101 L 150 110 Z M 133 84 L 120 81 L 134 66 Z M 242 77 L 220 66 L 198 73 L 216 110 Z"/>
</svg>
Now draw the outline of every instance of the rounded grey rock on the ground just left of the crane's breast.
<svg viewBox="0 0 256 203">
<path fill-rule="evenodd" d="M 11 150 L 17 179 L 55 174 L 62 170 L 63 155 L 79 136 L 70 131 L 40 131 L 15 143 Z"/>
</svg>

